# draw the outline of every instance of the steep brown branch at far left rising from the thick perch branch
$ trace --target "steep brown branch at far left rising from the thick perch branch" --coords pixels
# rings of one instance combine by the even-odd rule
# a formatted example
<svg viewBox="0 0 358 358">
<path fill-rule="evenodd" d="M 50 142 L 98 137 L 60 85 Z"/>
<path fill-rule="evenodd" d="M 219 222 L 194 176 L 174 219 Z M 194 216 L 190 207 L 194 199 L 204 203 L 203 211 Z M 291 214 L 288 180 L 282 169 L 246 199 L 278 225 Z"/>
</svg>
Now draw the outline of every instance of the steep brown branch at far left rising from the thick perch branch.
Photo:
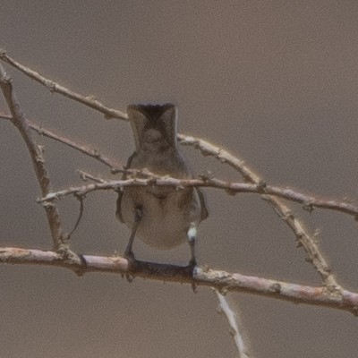
<svg viewBox="0 0 358 358">
<path fill-rule="evenodd" d="M 51 191 L 51 187 L 49 176 L 45 167 L 44 158 L 42 156 L 42 150 L 31 136 L 29 124 L 26 121 L 25 116 L 22 114 L 21 107 L 13 91 L 12 79 L 6 74 L 4 67 L 1 64 L 0 87 L 3 91 L 4 98 L 12 115 L 10 121 L 19 130 L 23 141 L 25 141 L 29 149 L 30 158 L 38 178 L 41 194 L 42 196 L 47 196 L 47 194 Z M 46 203 L 44 208 L 46 209 L 47 221 L 51 230 L 54 248 L 55 250 L 58 250 L 64 245 L 65 240 L 65 236 L 61 227 L 61 220 L 54 203 Z"/>
</svg>

